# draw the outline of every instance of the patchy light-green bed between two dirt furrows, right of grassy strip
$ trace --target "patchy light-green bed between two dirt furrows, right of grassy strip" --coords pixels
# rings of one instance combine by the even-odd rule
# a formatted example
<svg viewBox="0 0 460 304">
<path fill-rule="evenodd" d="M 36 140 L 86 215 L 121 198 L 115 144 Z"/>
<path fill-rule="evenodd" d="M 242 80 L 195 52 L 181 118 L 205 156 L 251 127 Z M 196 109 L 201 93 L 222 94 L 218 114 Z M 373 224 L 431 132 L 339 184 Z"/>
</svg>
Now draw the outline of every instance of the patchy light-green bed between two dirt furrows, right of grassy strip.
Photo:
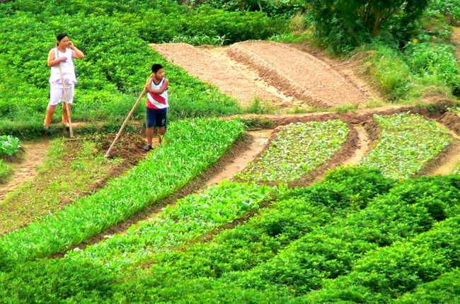
<svg viewBox="0 0 460 304">
<path fill-rule="evenodd" d="M 262 156 L 250 163 L 236 179 L 292 182 L 328 160 L 345 143 L 349 129 L 339 119 L 289 124 Z"/>
</svg>

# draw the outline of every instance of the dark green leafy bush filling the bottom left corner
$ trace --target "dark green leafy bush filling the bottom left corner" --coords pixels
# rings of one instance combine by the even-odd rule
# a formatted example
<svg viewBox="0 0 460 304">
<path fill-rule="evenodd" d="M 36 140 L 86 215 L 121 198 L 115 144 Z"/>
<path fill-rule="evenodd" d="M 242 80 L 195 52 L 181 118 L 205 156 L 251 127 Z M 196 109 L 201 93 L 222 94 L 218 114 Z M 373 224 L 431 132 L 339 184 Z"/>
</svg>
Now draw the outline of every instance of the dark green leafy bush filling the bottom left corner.
<svg viewBox="0 0 460 304">
<path fill-rule="evenodd" d="M 113 293 L 114 276 L 103 265 L 66 259 L 17 264 L 0 273 L 0 297 L 5 303 L 81 303 Z"/>
</svg>

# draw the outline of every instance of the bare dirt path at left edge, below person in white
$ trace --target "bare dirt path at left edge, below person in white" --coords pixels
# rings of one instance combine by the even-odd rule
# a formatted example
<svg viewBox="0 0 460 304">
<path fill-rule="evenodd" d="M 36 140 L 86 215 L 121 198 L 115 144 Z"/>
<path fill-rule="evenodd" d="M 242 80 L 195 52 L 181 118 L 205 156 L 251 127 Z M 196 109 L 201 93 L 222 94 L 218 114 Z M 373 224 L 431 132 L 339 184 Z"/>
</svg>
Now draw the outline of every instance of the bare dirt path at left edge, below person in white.
<svg viewBox="0 0 460 304">
<path fill-rule="evenodd" d="M 21 146 L 25 150 L 24 160 L 13 165 L 14 172 L 10 180 L 0 185 L 0 204 L 4 201 L 6 194 L 13 192 L 17 187 L 35 176 L 36 169 L 45 159 L 50 144 L 49 140 L 42 139 L 40 141 L 24 141 Z"/>
</svg>

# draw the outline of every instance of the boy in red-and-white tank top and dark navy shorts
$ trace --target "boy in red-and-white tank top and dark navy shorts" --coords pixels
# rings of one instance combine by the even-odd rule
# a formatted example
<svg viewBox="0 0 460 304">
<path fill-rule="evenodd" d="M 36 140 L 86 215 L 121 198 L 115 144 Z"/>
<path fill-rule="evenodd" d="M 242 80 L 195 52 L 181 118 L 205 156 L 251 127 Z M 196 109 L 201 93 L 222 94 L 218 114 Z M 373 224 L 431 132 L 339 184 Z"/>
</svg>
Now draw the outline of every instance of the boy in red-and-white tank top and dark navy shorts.
<svg viewBox="0 0 460 304">
<path fill-rule="evenodd" d="M 158 129 L 158 143 L 161 144 L 161 137 L 166 133 L 166 112 L 168 110 L 168 84 L 164 77 L 164 69 L 161 64 L 151 66 L 152 74 L 147 79 L 145 89 L 147 91 L 147 115 L 146 115 L 146 137 L 147 151 L 152 149 L 151 141 L 154 137 L 155 126 Z"/>
</svg>

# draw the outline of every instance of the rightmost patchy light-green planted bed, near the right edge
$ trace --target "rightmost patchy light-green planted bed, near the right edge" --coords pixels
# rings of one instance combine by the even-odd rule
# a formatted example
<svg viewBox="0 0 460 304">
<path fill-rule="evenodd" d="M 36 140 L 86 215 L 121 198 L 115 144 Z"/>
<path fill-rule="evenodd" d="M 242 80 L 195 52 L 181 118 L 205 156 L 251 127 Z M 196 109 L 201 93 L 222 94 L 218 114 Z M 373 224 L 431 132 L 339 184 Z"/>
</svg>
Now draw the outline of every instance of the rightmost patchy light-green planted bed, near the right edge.
<svg viewBox="0 0 460 304">
<path fill-rule="evenodd" d="M 380 137 L 361 165 L 379 168 L 388 177 L 408 178 L 418 173 L 452 141 L 437 122 L 420 115 L 374 115 L 374 119 Z"/>
</svg>

